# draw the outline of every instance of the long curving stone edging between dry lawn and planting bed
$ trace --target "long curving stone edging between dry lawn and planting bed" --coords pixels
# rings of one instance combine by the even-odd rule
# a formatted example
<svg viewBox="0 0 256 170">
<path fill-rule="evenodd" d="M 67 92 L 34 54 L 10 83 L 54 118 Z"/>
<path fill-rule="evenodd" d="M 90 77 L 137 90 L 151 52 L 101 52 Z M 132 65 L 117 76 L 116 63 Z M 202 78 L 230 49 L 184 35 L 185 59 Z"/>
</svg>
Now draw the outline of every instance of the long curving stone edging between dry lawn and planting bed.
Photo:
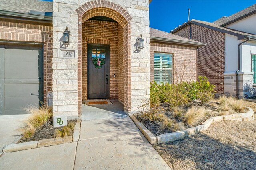
<svg viewBox="0 0 256 170">
<path fill-rule="evenodd" d="M 202 125 L 191 127 L 183 131 L 177 131 L 172 133 L 165 133 L 162 135 L 157 136 L 157 143 L 167 143 L 171 141 L 176 141 L 182 139 L 187 136 L 194 135 L 198 132 L 205 131 L 210 127 L 212 122 L 217 121 L 227 121 L 227 120 L 236 120 L 236 121 L 251 121 L 254 120 L 254 111 L 250 107 L 246 107 L 249 109 L 246 113 L 237 113 L 232 115 L 223 115 L 223 116 L 216 116 L 210 119 L 207 119 Z"/>
</svg>

